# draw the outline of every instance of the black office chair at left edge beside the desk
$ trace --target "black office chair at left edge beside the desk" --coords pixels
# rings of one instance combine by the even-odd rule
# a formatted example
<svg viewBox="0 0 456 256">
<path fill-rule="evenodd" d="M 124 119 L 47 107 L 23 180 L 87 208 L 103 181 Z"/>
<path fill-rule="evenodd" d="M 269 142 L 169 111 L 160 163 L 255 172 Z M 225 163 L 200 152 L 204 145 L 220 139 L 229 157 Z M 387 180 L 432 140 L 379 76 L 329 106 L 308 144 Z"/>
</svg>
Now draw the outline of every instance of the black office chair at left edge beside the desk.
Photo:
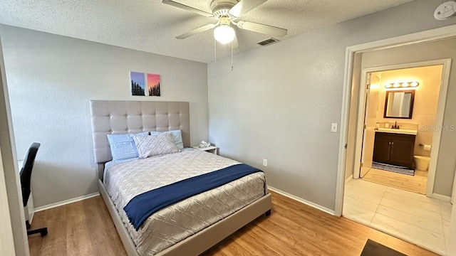
<svg viewBox="0 0 456 256">
<path fill-rule="evenodd" d="M 35 163 L 36 152 L 40 144 L 38 142 L 33 142 L 28 148 L 26 158 L 24 159 L 24 164 L 22 164 L 21 169 L 21 187 L 22 187 L 22 203 L 24 207 L 27 206 L 28 198 L 30 197 L 30 180 L 31 180 L 31 171 L 33 170 L 33 164 Z M 30 229 L 30 223 L 26 220 L 27 230 Z M 41 236 L 48 235 L 48 228 L 38 228 L 36 230 L 28 230 L 27 235 L 33 235 L 41 233 Z"/>
</svg>

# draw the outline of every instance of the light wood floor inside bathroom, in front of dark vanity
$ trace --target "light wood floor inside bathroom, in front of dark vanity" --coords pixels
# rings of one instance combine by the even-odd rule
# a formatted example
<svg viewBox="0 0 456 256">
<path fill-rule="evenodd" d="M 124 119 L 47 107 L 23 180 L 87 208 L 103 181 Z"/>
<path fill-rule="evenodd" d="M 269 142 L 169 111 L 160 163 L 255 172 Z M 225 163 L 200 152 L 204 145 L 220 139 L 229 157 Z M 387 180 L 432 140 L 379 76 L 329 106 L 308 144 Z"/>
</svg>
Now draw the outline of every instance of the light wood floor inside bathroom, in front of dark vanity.
<svg viewBox="0 0 456 256">
<path fill-rule="evenodd" d="M 371 181 L 393 188 L 425 194 L 427 183 L 427 171 L 415 171 L 415 176 L 397 174 L 393 171 L 383 171 L 371 168 L 363 177 L 364 181 Z"/>
</svg>

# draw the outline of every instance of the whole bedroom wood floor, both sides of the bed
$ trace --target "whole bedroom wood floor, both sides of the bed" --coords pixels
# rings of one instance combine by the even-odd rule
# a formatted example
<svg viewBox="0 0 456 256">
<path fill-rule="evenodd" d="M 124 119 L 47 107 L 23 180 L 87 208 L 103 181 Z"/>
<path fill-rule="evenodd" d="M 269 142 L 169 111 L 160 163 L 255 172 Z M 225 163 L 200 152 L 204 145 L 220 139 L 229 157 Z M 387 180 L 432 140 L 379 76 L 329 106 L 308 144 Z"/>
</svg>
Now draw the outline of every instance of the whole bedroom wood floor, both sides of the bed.
<svg viewBox="0 0 456 256">
<path fill-rule="evenodd" d="M 346 218 L 272 193 L 270 216 L 261 216 L 219 242 L 211 255 L 346 255 L 358 256 L 370 238 L 406 255 L 435 255 Z M 35 255 L 126 255 L 100 196 L 36 213 L 32 228 L 48 235 L 28 238 Z"/>
</svg>

